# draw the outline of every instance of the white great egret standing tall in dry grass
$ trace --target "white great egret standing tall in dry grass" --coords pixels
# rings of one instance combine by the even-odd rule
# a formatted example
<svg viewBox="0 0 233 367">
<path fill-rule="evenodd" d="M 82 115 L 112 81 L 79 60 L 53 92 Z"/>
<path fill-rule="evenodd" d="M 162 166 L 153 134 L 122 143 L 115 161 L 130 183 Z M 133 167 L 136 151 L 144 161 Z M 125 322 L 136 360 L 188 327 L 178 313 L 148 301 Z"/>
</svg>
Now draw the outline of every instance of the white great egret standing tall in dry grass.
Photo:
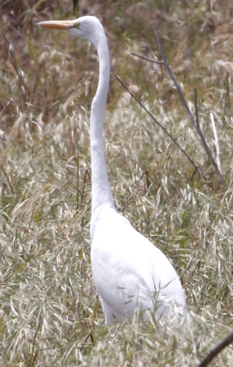
<svg viewBox="0 0 233 367">
<path fill-rule="evenodd" d="M 110 77 L 106 35 L 95 17 L 37 23 L 93 43 L 99 56 L 99 84 L 90 114 L 92 216 L 90 222 L 93 279 L 106 325 L 130 319 L 136 309 L 177 323 L 186 313 L 186 297 L 166 256 L 137 232 L 115 208 L 108 182 L 103 145 L 103 120 Z"/>
</svg>

